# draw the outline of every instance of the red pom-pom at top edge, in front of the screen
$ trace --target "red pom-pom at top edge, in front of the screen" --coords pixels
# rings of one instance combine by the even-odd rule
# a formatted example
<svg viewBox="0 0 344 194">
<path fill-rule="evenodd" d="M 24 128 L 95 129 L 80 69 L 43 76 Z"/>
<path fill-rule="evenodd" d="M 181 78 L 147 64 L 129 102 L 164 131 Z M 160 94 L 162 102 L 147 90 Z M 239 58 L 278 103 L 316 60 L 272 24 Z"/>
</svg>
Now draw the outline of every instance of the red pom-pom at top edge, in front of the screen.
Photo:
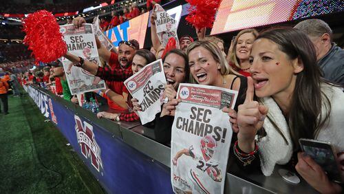
<svg viewBox="0 0 344 194">
<path fill-rule="evenodd" d="M 190 4 L 186 21 L 197 29 L 213 28 L 215 14 L 221 0 L 186 0 Z"/>
</svg>

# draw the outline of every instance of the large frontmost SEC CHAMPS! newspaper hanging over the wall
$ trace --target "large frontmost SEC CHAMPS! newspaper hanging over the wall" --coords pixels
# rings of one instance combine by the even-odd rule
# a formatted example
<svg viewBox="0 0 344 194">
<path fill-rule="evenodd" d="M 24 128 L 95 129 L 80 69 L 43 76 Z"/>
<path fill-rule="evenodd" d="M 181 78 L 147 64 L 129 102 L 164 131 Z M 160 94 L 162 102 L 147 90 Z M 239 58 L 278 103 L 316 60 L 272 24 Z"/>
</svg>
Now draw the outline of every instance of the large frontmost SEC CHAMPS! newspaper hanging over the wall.
<svg viewBox="0 0 344 194">
<path fill-rule="evenodd" d="M 171 139 L 171 183 L 175 193 L 224 193 L 232 129 L 224 107 L 237 91 L 181 83 Z"/>
</svg>

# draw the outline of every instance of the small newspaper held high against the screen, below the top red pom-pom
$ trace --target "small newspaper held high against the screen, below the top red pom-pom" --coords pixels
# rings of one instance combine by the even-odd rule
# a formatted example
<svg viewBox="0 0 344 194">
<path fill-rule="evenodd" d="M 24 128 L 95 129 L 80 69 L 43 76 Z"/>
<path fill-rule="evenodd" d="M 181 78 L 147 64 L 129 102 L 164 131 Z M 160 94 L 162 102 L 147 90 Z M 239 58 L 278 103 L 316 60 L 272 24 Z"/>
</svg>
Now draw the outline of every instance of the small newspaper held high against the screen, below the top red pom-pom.
<svg viewBox="0 0 344 194">
<path fill-rule="evenodd" d="M 160 43 L 166 47 L 171 37 L 175 39 L 175 46 L 179 49 L 179 41 L 177 35 L 177 21 L 173 19 L 159 4 L 155 4 L 154 12 L 156 13 L 156 33 L 158 34 Z"/>
</svg>

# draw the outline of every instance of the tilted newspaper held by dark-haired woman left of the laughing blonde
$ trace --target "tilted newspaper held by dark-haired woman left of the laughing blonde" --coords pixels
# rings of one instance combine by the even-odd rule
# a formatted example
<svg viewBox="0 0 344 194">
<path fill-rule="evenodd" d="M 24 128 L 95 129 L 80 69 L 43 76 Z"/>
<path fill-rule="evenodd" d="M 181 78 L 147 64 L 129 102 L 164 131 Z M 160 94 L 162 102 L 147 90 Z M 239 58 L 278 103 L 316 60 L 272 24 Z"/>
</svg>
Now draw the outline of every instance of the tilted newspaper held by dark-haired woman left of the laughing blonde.
<svg viewBox="0 0 344 194">
<path fill-rule="evenodd" d="M 161 96 L 165 85 L 161 59 L 149 63 L 140 69 L 140 72 L 125 80 L 125 87 L 141 105 L 142 110 L 138 111 L 138 116 L 142 125 L 154 120 L 155 114 L 161 111 Z"/>
</svg>

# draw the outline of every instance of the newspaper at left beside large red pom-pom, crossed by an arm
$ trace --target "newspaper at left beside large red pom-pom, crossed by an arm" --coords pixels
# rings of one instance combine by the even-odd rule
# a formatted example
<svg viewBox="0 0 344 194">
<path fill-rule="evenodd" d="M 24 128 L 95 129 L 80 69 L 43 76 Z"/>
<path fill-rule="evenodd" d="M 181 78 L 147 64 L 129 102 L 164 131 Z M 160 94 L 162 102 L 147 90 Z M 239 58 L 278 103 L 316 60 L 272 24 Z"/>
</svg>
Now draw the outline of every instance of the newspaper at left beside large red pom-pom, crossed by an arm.
<svg viewBox="0 0 344 194">
<path fill-rule="evenodd" d="M 74 28 L 72 24 L 61 25 L 60 32 L 63 34 L 63 39 L 67 43 L 67 50 L 69 53 L 100 65 L 92 24 L 85 23 L 78 29 Z M 65 57 L 61 58 L 61 62 L 63 63 L 63 68 L 65 69 L 65 75 L 72 95 L 94 91 L 96 89 L 105 89 L 104 80 L 93 76 L 80 67 L 75 67 L 72 62 Z"/>
</svg>

